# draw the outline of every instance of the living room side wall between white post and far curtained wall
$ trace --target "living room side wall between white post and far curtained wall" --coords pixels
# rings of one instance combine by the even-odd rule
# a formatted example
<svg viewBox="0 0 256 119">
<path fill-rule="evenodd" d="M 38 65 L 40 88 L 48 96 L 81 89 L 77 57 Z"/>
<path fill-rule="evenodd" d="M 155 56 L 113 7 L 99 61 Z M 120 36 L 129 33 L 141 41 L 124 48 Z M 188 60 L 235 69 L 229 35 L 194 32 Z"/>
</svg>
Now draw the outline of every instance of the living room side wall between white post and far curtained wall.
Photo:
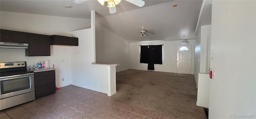
<svg viewBox="0 0 256 119">
<path fill-rule="evenodd" d="M 119 63 L 116 71 L 130 69 L 130 43 L 96 23 L 96 62 Z"/>
</svg>

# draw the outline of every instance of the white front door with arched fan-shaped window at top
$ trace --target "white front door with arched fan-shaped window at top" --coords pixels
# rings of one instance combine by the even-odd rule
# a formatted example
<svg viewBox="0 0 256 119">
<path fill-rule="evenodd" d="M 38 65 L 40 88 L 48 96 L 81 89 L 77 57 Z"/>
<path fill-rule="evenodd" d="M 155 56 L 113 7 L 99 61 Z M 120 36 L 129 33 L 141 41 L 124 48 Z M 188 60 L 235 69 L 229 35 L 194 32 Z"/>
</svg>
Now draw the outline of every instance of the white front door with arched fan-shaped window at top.
<svg viewBox="0 0 256 119">
<path fill-rule="evenodd" d="M 191 73 L 191 46 L 177 46 L 177 73 Z"/>
</svg>

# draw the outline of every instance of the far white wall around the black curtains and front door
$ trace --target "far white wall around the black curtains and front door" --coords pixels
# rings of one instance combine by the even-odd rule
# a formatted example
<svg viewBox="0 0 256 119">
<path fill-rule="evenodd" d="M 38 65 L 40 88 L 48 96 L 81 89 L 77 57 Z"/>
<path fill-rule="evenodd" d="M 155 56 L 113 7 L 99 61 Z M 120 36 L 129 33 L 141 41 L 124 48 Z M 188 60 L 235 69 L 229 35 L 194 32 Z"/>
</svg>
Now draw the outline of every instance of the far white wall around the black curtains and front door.
<svg viewBox="0 0 256 119">
<path fill-rule="evenodd" d="M 176 73 L 177 65 L 177 46 L 182 46 L 181 40 L 176 41 L 154 41 L 154 42 L 136 42 L 130 43 L 130 68 L 131 69 L 140 69 L 147 70 L 147 63 L 140 63 L 140 46 L 139 45 L 162 45 L 163 48 L 163 64 L 154 64 L 154 71 L 164 71 L 164 72 L 173 72 Z M 195 40 L 186 40 L 187 45 L 192 46 L 192 61 L 191 61 L 191 74 L 194 74 L 194 49 L 195 49 Z M 175 59 L 173 58 L 175 57 Z"/>
</svg>

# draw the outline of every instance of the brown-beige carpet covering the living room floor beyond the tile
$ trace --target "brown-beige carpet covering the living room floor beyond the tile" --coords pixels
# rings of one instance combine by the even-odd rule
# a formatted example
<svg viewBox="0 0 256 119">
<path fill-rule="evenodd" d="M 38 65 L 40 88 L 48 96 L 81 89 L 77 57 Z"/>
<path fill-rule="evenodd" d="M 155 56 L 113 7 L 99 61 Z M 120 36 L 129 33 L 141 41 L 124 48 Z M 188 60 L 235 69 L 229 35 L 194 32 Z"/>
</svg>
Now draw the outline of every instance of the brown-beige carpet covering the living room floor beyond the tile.
<svg viewBox="0 0 256 119">
<path fill-rule="evenodd" d="M 116 73 L 115 101 L 180 119 L 206 119 L 193 75 L 128 69 Z"/>
</svg>

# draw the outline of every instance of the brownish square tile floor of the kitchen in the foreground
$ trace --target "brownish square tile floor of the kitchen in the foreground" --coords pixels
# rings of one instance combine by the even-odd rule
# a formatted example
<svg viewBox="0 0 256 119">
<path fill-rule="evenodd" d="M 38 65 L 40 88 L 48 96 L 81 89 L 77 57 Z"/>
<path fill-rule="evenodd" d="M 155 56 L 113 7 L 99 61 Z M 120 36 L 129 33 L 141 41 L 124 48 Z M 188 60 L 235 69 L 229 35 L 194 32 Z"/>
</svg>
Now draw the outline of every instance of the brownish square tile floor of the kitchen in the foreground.
<svg viewBox="0 0 256 119">
<path fill-rule="evenodd" d="M 104 93 L 74 85 L 56 94 L 0 111 L 1 119 L 175 119 L 111 100 Z"/>
</svg>

